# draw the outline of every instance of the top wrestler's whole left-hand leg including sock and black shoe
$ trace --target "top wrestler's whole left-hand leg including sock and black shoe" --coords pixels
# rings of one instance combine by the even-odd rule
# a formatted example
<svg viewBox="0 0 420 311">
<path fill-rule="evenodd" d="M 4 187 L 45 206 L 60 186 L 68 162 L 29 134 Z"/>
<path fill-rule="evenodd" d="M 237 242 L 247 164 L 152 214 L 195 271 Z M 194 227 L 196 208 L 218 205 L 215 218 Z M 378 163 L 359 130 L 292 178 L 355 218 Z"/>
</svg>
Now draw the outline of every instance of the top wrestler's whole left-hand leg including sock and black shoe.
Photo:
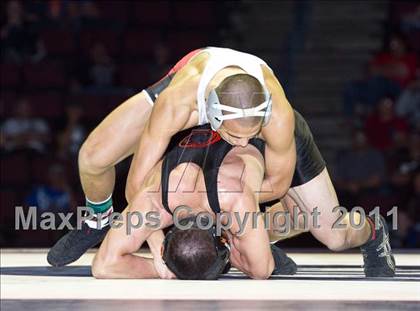
<svg viewBox="0 0 420 311">
<path fill-rule="evenodd" d="M 105 237 L 112 212 L 114 166 L 133 153 L 151 110 L 144 93 L 137 94 L 111 112 L 83 144 L 79 152 L 80 179 L 86 205 L 93 209 L 96 219 L 86 220 L 80 230 L 72 230 L 57 241 L 47 256 L 51 265 L 77 260 Z"/>
</svg>

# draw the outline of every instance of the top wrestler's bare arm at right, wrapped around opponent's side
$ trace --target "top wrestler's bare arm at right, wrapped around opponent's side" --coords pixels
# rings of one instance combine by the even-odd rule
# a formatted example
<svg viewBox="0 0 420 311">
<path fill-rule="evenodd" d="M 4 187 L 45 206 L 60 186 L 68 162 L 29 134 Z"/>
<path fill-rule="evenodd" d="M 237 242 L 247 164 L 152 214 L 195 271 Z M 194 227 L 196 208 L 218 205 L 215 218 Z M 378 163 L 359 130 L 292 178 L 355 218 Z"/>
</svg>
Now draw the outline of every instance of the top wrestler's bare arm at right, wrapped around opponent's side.
<svg viewBox="0 0 420 311">
<path fill-rule="evenodd" d="M 273 100 L 273 112 L 270 122 L 262 130 L 266 142 L 266 175 L 260 202 L 282 197 L 288 191 L 296 164 L 293 109 L 274 74 L 269 69 L 263 71 Z"/>
</svg>

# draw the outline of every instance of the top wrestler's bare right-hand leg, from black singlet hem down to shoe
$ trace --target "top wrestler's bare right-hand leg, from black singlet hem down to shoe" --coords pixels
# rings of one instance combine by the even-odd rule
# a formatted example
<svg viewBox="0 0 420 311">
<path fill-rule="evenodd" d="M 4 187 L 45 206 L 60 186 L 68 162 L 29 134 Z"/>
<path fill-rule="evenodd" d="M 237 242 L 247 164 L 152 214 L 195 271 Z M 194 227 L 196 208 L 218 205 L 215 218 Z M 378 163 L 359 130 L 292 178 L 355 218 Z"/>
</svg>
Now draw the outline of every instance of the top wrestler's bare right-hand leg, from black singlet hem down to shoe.
<svg viewBox="0 0 420 311">
<path fill-rule="evenodd" d="M 314 223 L 309 223 L 309 229 L 316 239 L 325 244 L 333 251 L 341 251 L 348 248 L 361 246 L 366 243 L 371 234 L 371 227 L 366 221 L 360 229 L 350 225 L 349 213 L 341 220 L 343 229 L 333 228 L 340 217 L 337 195 L 332 185 L 326 168 L 309 182 L 293 187 L 288 194 L 307 213 L 312 213 L 315 208 L 319 212 L 318 228 Z M 354 223 L 359 224 L 360 214 L 354 213 Z"/>
</svg>

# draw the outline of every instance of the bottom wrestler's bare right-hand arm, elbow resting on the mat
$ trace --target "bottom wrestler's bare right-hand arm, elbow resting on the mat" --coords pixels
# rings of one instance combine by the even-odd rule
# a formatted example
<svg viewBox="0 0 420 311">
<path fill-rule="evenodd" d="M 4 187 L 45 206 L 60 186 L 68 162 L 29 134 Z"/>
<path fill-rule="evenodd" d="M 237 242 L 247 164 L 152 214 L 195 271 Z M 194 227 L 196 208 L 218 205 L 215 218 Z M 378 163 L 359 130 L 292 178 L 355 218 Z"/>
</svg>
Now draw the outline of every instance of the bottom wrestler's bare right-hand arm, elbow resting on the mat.
<svg viewBox="0 0 420 311">
<path fill-rule="evenodd" d="M 266 279 L 274 269 L 274 259 L 270 250 L 268 233 L 264 226 L 263 213 L 259 213 L 258 206 L 258 191 L 263 180 L 264 167 L 262 161 L 258 161 L 250 155 L 242 155 L 242 158 L 245 167 L 242 166 L 243 170 L 239 167 L 234 170 L 242 176 L 239 178 L 231 176 L 227 179 L 221 175 L 219 179 L 219 191 L 221 191 L 219 198 L 222 210 L 230 212 L 233 220 L 229 230 L 230 260 L 234 267 L 250 277 Z M 223 174 L 223 166 L 221 170 Z M 232 185 L 234 185 L 233 187 L 238 185 L 240 189 L 233 189 Z M 234 216 L 235 213 L 237 216 Z M 240 232 L 241 230 L 242 232 Z"/>
</svg>

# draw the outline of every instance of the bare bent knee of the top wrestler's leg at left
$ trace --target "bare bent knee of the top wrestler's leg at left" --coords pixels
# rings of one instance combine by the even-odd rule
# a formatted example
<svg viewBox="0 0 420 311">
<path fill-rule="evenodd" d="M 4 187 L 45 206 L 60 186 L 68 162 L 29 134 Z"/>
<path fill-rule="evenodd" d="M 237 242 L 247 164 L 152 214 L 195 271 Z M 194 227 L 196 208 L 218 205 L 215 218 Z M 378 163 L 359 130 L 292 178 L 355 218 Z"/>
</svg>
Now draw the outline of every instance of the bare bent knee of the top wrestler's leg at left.
<svg viewBox="0 0 420 311">
<path fill-rule="evenodd" d="M 109 163 L 106 161 L 101 150 L 101 143 L 98 139 L 89 136 L 83 143 L 79 150 L 79 170 L 82 173 L 91 175 L 101 174 L 109 168 Z"/>
</svg>

